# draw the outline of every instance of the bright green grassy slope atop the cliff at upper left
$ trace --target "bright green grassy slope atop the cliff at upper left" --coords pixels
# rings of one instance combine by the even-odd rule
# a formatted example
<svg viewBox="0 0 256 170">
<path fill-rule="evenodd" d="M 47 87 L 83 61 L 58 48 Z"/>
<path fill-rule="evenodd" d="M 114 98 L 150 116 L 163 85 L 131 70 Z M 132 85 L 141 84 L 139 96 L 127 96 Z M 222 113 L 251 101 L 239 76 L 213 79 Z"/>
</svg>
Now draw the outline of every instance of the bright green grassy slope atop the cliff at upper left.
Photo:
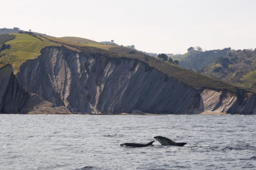
<svg viewBox="0 0 256 170">
<path fill-rule="evenodd" d="M 99 46 L 105 50 L 110 48 L 108 45 L 102 45 L 100 43 L 88 45 L 71 42 L 62 38 L 48 36 L 43 37 L 34 34 L 5 34 L 1 35 L 0 40 L 5 42 L 5 44 L 11 45 L 10 49 L 0 52 L 0 67 L 6 64 L 11 64 L 15 74 L 19 71 L 21 64 L 23 64 L 25 61 L 38 58 L 38 56 L 41 55 L 41 49 L 44 47 L 63 45 L 73 51 L 81 52 L 81 48 L 83 49 L 82 51 L 90 51 L 92 53 L 106 53 L 106 51 L 95 48 L 94 46 Z"/>
</svg>

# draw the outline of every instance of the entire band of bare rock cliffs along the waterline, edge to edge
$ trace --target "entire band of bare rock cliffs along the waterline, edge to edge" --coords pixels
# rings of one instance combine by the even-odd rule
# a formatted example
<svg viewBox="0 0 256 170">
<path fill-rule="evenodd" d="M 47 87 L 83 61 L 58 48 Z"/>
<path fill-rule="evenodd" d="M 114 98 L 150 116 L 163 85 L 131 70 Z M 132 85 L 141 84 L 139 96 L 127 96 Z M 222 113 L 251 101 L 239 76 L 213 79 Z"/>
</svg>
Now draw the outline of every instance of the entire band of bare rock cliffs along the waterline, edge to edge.
<svg viewBox="0 0 256 170">
<path fill-rule="evenodd" d="M 229 91 L 197 91 L 138 59 L 77 53 L 65 47 L 46 47 L 41 53 L 23 63 L 16 76 L 10 65 L 0 69 L 2 113 L 60 106 L 92 114 L 256 112 L 254 93 L 238 102 L 239 97 Z"/>
</svg>

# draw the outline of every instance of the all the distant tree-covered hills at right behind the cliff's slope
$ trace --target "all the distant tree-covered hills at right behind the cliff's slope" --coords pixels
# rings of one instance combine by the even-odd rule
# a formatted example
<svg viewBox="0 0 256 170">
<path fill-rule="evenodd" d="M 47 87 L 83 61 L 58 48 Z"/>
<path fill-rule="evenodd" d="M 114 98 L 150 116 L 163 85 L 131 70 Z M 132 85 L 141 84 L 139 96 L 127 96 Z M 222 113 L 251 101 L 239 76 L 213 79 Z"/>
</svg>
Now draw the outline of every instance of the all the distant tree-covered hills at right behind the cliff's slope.
<svg viewBox="0 0 256 170">
<path fill-rule="evenodd" d="M 181 67 L 256 92 L 256 50 L 192 50 L 173 55 L 173 59 L 178 59 Z"/>
</svg>

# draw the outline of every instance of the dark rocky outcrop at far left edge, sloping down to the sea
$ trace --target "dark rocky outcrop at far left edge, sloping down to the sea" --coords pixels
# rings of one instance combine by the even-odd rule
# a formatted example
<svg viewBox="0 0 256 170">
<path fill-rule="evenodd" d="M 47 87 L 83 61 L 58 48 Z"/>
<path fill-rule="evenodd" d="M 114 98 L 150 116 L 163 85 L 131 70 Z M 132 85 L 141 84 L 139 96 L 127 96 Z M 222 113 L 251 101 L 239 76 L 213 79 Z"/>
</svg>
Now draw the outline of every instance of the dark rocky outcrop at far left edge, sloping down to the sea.
<svg viewBox="0 0 256 170">
<path fill-rule="evenodd" d="M 10 64 L 0 68 L 0 113 L 24 113 L 37 106 L 52 107 L 52 104 L 26 91 L 18 83 Z"/>
</svg>

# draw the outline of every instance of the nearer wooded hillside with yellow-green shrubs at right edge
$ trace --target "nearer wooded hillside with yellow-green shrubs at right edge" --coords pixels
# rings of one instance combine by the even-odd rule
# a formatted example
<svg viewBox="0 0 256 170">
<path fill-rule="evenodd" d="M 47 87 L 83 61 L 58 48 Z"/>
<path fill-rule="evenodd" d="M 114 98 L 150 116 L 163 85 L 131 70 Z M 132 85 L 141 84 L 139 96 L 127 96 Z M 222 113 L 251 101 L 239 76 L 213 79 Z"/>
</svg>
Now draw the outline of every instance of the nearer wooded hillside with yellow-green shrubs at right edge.
<svg viewBox="0 0 256 170">
<path fill-rule="evenodd" d="M 230 50 L 227 55 L 217 58 L 202 73 L 256 92 L 256 50 Z"/>
</svg>

